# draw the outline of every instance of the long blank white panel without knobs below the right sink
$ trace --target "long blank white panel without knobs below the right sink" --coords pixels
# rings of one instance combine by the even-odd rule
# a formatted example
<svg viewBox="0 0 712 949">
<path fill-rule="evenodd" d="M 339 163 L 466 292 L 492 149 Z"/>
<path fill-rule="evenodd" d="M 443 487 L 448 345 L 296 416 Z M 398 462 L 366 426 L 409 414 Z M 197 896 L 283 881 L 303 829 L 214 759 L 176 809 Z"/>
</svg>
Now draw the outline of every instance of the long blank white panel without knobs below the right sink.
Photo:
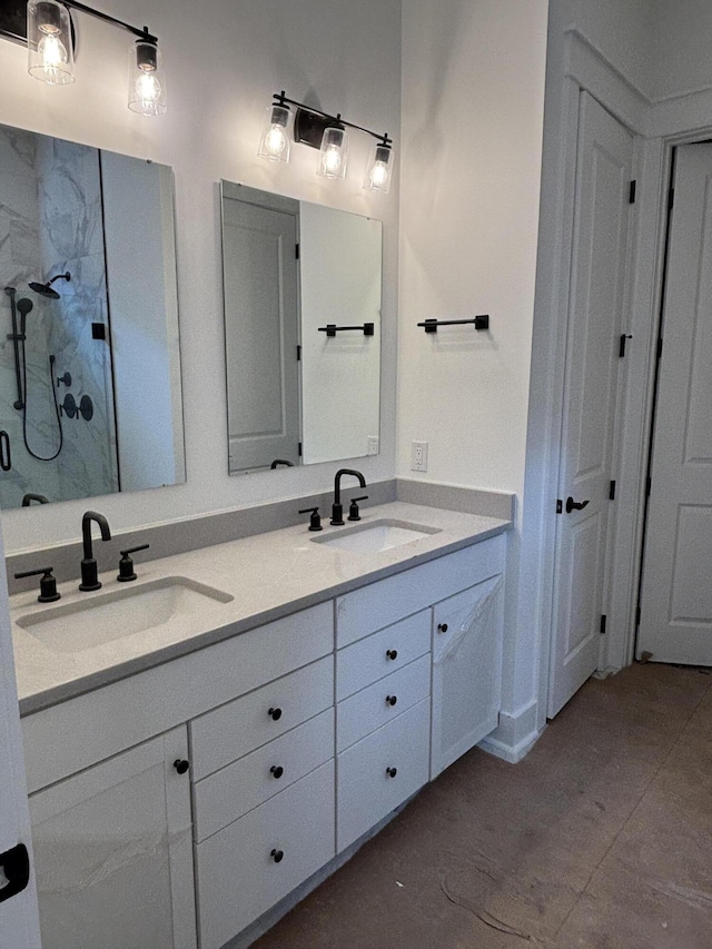
<svg viewBox="0 0 712 949">
<path fill-rule="evenodd" d="M 337 597 L 337 649 L 502 573 L 504 543 L 500 534 Z"/>
</svg>

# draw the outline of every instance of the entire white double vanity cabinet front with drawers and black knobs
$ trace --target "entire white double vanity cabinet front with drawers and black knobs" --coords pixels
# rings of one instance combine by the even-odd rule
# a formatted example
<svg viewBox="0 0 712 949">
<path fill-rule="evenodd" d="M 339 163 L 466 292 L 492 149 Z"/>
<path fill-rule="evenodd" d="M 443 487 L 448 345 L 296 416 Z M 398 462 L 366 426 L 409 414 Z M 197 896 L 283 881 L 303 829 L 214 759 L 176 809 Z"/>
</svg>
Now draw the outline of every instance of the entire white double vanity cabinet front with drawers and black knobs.
<svg viewBox="0 0 712 949">
<path fill-rule="evenodd" d="M 43 949 L 219 949 L 484 738 L 504 544 L 23 718 Z"/>
</svg>

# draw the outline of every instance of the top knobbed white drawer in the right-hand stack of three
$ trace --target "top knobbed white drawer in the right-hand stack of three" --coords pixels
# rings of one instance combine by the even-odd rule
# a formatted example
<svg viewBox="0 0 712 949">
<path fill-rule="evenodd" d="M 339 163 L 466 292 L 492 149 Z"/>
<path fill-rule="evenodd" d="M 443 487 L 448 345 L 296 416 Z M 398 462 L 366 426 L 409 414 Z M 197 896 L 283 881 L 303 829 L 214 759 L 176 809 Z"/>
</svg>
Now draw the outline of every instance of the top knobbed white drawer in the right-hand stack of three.
<svg viewBox="0 0 712 949">
<path fill-rule="evenodd" d="M 431 611 L 423 610 L 340 650 L 336 654 L 337 702 L 425 655 L 429 649 Z"/>
</svg>

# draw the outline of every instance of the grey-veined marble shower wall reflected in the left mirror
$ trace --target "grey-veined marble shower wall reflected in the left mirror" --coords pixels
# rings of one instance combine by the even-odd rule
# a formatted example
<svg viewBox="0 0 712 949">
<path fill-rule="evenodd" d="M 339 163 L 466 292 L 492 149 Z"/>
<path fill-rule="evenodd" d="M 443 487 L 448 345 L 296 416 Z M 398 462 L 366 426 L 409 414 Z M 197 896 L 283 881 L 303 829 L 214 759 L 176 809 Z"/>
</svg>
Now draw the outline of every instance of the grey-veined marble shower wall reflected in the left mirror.
<svg viewBox="0 0 712 949">
<path fill-rule="evenodd" d="M 60 299 L 29 289 L 57 280 Z M 0 504 L 17 507 L 27 492 L 50 501 L 108 494 L 118 490 L 111 355 L 109 350 L 101 179 L 96 149 L 0 127 L 0 281 L 27 298 L 24 343 L 27 419 L 13 407 L 17 382 L 10 297 L 0 298 L 0 428 L 8 432 L 12 469 L 0 472 Z M 18 315 L 18 320 L 20 319 Z M 103 327 L 106 339 L 92 327 Z M 20 344 L 21 345 L 21 344 Z M 50 378 L 50 355 L 55 364 Z M 71 384 L 57 384 L 70 373 Z M 62 446 L 52 391 L 90 397 L 93 416 L 61 416 Z M 23 427 L 24 436 L 23 437 Z"/>
</svg>

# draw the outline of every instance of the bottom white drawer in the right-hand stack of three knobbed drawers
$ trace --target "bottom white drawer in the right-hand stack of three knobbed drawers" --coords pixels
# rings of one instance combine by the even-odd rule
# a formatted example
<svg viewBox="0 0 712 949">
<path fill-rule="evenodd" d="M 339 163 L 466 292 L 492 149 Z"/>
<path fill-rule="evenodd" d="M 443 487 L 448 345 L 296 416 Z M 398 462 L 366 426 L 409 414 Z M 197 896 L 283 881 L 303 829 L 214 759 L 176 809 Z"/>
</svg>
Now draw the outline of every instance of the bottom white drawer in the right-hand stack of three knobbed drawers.
<svg viewBox="0 0 712 949">
<path fill-rule="evenodd" d="M 429 728 L 426 699 L 338 755 L 338 851 L 427 782 Z M 387 769 L 394 768 L 390 777 Z"/>
</svg>

